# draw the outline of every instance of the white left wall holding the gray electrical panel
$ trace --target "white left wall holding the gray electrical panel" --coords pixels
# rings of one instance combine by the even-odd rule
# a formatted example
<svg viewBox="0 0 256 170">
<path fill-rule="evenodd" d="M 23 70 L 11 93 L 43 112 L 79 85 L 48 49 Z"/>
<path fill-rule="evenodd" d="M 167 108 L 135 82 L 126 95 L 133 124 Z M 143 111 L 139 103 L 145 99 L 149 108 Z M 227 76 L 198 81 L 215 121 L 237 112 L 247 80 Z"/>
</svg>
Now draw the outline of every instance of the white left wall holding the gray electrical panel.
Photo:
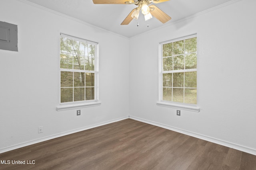
<svg viewBox="0 0 256 170">
<path fill-rule="evenodd" d="M 18 25 L 18 52 L 0 50 L 0 150 L 128 117 L 128 38 L 18 0 L 1 0 L 0 21 Z M 102 104 L 80 116 L 56 111 L 60 32 L 100 44 Z"/>
</svg>

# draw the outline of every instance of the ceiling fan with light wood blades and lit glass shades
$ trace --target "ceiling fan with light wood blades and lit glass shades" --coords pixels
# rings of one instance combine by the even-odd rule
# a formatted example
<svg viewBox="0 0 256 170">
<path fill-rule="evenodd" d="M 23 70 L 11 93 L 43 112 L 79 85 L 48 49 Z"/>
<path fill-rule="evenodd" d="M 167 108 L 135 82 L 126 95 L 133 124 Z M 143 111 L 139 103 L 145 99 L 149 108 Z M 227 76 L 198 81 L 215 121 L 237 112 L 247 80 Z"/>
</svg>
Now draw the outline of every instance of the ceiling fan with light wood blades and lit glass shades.
<svg viewBox="0 0 256 170">
<path fill-rule="evenodd" d="M 170 19 L 166 13 L 157 8 L 155 5 L 150 5 L 152 2 L 158 4 L 160 2 L 166 2 L 168 0 L 92 0 L 94 4 L 135 4 L 138 7 L 134 8 L 130 14 L 124 19 L 121 25 L 128 25 L 132 19 L 138 20 L 140 11 L 144 14 L 145 21 L 149 20 L 154 16 L 162 23 L 166 23 Z"/>
</svg>

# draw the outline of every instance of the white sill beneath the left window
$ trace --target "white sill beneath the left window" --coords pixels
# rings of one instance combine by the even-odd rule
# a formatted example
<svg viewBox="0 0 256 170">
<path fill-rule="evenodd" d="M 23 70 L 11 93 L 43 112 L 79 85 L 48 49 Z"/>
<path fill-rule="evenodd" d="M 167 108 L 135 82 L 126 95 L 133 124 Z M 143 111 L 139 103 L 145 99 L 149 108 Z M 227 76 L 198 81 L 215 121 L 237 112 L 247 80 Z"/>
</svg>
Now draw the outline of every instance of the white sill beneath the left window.
<svg viewBox="0 0 256 170">
<path fill-rule="evenodd" d="M 93 106 L 100 106 L 101 102 L 90 102 L 90 103 L 82 103 L 82 104 L 65 104 L 65 105 L 60 105 L 56 107 L 57 111 L 62 111 L 62 110 L 70 110 L 70 109 L 79 109 L 83 107 L 93 107 Z"/>
</svg>

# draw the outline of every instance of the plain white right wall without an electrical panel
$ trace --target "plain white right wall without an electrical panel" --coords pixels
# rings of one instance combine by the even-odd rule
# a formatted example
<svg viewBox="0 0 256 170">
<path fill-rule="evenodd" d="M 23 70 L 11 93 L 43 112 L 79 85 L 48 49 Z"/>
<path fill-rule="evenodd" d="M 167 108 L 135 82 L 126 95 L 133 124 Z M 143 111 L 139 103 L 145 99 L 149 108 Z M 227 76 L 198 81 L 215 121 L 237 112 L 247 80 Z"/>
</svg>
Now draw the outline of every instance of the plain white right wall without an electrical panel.
<svg viewBox="0 0 256 170">
<path fill-rule="evenodd" d="M 230 4 L 130 39 L 130 116 L 256 154 L 256 1 Z M 197 33 L 200 112 L 156 106 L 158 44 Z M 138 48 L 138 46 L 140 48 Z"/>
</svg>

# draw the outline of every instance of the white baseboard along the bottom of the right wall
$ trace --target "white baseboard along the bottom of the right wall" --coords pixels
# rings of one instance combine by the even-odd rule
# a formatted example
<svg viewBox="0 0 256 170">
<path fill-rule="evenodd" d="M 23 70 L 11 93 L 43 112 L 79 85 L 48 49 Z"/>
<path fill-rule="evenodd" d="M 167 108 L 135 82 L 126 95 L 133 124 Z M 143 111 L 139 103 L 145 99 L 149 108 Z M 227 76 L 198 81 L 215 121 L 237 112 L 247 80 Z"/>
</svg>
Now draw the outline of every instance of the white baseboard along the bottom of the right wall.
<svg viewBox="0 0 256 170">
<path fill-rule="evenodd" d="M 256 150 L 255 149 L 251 149 L 251 148 L 248 148 L 248 147 L 243 147 L 243 146 L 240 146 L 240 145 L 236 145 L 234 143 L 222 141 L 220 139 L 215 139 L 215 138 L 200 135 L 200 134 L 197 134 L 197 133 L 194 133 L 194 132 L 185 131 L 183 129 L 179 129 L 179 128 L 176 128 L 176 127 L 171 127 L 169 125 L 164 125 L 164 124 L 157 123 L 157 122 L 154 122 L 154 121 L 149 121 L 149 120 L 146 120 L 146 119 L 141 119 L 141 118 L 134 117 L 134 116 L 131 116 L 131 115 L 129 116 L 129 118 L 137 120 L 137 121 L 141 121 L 141 122 L 144 122 L 144 123 L 148 123 L 150 125 L 155 125 L 155 126 L 158 126 L 158 127 L 162 127 L 164 129 L 169 129 L 169 130 L 172 130 L 172 131 L 176 131 L 178 133 L 182 133 L 182 134 L 189 135 L 189 136 L 192 136 L 192 137 L 196 137 L 198 139 L 202 139 L 202 140 L 205 140 L 205 141 L 216 143 L 218 145 L 222 145 L 222 146 L 229 147 L 229 148 L 232 148 L 232 149 L 240 150 L 242 152 L 246 152 L 246 153 L 249 153 L 249 154 L 256 155 Z"/>
</svg>

